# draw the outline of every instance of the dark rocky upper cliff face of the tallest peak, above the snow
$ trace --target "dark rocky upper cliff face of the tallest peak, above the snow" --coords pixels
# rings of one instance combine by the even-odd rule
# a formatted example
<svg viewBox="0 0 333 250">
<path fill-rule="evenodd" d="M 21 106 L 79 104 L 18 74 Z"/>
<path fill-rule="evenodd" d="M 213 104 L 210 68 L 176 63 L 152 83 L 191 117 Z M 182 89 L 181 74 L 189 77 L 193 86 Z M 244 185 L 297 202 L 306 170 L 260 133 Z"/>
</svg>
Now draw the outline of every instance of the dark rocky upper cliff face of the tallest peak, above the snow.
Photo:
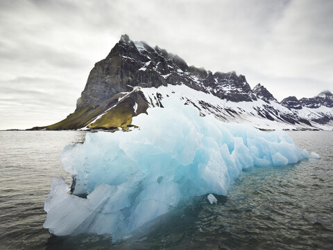
<svg viewBox="0 0 333 250">
<path fill-rule="evenodd" d="M 187 66 L 178 55 L 157 46 L 152 48 L 145 42 L 133 42 L 128 35 L 122 35 L 109 55 L 90 71 L 76 111 L 87 105 L 99 105 L 135 86 L 160 87 L 167 84 L 185 84 L 234 102 L 257 100 L 244 75 L 234 72 L 213 74 L 203 68 Z"/>
</svg>

